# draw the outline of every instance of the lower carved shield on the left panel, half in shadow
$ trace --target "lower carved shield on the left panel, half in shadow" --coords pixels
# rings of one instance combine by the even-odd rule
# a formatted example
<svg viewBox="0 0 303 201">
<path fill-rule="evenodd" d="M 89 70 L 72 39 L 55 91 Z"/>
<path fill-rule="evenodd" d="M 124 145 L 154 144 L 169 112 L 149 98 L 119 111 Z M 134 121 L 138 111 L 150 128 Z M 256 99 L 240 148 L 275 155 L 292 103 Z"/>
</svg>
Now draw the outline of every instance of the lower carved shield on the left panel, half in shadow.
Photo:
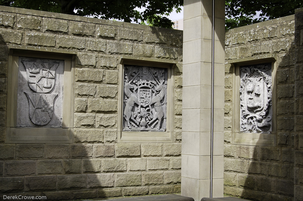
<svg viewBox="0 0 303 201">
<path fill-rule="evenodd" d="M 28 98 L 29 118 L 35 125 L 46 125 L 52 120 L 55 97 L 58 94 L 24 92 Z"/>
</svg>

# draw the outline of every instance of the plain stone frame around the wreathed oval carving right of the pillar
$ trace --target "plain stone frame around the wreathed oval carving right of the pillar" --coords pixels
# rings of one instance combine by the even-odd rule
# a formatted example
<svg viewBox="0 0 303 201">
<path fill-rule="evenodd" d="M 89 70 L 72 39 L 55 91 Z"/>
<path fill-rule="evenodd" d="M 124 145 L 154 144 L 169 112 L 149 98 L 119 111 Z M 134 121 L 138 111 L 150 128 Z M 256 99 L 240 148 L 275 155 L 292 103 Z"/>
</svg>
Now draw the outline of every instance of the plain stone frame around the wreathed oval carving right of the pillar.
<svg viewBox="0 0 303 201">
<path fill-rule="evenodd" d="M 275 147 L 277 142 L 277 87 L 276 87 L 276 71 L 277 62 L 276 55 L 268 54 L 262 57 L 249 57 L 244 59 L 229 60 L 233 68 L 233 90 L 232 90 L 232 142 L 231 144 L 253 145 L 253 146 L 269 146 Z M 248 133 L 240 132 L 240 66 L 254 65 L 261 63 L 271 63 L 271 79 L 272 79 L 272 130 L 271 133 Z"/>
</svg>

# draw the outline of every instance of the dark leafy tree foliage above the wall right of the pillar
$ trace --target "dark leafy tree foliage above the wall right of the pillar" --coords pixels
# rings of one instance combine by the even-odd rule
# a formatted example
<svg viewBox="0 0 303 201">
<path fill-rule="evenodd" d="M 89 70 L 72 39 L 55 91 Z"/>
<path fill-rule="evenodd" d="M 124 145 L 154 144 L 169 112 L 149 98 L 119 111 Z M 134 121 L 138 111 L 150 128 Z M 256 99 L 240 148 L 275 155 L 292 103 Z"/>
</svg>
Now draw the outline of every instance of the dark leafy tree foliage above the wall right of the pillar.
<svg viewBox="0 0 303 201">
<path fill-rule="evenodd" d="M 225 0 L 225 28 L 254 24 L 268 19 L 292 15 L 303 7 L 302 0 Z M 259 18 L 254 18 L 256 12 Z"/>
</svg>

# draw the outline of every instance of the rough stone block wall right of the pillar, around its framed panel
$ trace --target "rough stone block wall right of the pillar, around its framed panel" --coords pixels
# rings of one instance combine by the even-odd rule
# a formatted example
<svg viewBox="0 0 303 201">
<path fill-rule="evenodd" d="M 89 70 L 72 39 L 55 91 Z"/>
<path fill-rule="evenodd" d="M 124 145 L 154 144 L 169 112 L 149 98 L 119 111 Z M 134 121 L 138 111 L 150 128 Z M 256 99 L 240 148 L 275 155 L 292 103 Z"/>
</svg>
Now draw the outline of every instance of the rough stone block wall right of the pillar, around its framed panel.
<svg viewBox="0 0 303 201">
<path fill-rule="evenodd" d="M 301 164 L 294 163 L 301 130 L 299 99 L 295 83 L 299 79 L 295 68 L 295 16 L 228 30 L 225 35 L 225 149 L 224 193 L 251 200 L 293 200 L 294 177 Z M 301 22 L 300 22 L 301 23 Z M 302 33 L 302 32 L 301 32 Z M 298 40 L 297 40 L 298 41 Z M 299 57 L 297 57 L 299 58 Z M 270 60 L 271 59 L 271 60 Z M 235 69 L 241 63 L 268 60 L 273 63 L 273 130 L 276 142 L 271 146 L 233 143 L 235 119 Z M 298 67 L 297 67 L 298 68 Z M 276 90 L 276 92 L 274 92 Z M 297 87 L 298 92 L 298 87 Z M 235 93 L 234 93 L 235 94 Z M 234 110 L 234 111 L 233 111 Z M 275 114 L 277 116 L 276 120 Z M 301 113 L 300 113 L 301 114 Z M 256 143 L 261 139 L 255 139 Z M 253 142 L 253 143 L 255 143 Z M 301 157 L 302 158 L 302 157 Z M 297 169 L 294 169 L 294 164 Z M 301 188 L 301 183 L 298 189 Z M 299 198 L 296 200 L 300 200 Z"/>
</svg>

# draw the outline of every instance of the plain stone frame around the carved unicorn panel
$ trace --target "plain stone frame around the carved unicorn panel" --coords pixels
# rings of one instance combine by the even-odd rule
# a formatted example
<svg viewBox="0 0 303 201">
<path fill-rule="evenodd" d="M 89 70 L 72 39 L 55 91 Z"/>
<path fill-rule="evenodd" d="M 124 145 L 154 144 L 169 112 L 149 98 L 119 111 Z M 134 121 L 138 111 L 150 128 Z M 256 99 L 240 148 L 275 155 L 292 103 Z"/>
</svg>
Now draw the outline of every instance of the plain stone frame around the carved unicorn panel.
<svg viewBox="0 0 303 201">
<path fill-rule="evenodd" d="M 173 142 L 174 135 L 174 73 L 178 61 L 145 57 L 121 56 L 118 92 L 118 143 L 120 142 Z M 123 77 L 124 65 L 168 68 L 166 131 L 123 131 Z"/>
</svg>

